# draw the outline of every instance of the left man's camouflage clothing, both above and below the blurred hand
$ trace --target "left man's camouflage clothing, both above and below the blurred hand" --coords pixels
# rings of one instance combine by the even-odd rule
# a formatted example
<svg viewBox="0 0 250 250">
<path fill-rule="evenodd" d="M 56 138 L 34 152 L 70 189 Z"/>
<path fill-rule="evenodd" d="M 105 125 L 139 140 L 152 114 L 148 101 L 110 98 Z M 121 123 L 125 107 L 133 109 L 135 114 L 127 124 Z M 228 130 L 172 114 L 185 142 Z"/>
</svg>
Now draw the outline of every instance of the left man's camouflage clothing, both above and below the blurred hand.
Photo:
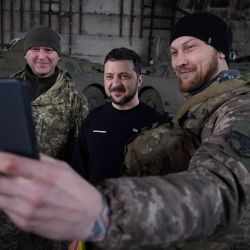
<svg viewBox="0 0 250 250">
<path fill-rule="evenodd" d="M 14 77 L 25 79 L 23 71 Z M 55 84 L 32 102 L 32 111 L 40 151 L 62 158 L 67 142 L 78 135 L 88 105 L 68 73 L 59 69 Z M 66 245 L 22 232 L 0 212 L 1 250 L 66 250 Z"/>
</svg>

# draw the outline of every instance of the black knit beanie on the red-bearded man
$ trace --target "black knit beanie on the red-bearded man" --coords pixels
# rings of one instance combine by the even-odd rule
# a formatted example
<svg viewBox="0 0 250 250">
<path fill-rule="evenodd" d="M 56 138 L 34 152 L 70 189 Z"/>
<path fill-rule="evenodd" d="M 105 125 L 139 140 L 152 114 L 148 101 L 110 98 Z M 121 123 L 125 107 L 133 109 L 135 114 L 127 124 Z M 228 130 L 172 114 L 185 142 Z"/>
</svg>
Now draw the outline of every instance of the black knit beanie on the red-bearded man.
<svg viewBox="0 0 250 250">
<path fill-rule="evenodd" d="M 220 17 L 210 12 L 196 12 L 181 18 L 175 25 L 170 44 L 181 36 L 192 36 L 225 54 L 229 63 L 232 48 L 232 30 Z"/>
</svg>

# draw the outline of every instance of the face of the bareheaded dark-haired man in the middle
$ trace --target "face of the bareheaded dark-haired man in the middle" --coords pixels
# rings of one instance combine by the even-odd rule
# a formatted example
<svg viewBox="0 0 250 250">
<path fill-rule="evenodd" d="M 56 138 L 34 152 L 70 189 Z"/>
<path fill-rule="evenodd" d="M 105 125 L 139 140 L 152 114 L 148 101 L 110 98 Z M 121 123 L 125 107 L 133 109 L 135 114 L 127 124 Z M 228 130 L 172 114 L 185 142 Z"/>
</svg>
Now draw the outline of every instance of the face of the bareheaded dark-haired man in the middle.
<svg viewBox="0 0 250 250">
<path fill-rule="evenodd" d="M 118 109 L 137 105 L 142 80 L 143 76 L 137 75 L 132 60 L 111 60 L 104 65 L 105 92 Z"/>
</svg>

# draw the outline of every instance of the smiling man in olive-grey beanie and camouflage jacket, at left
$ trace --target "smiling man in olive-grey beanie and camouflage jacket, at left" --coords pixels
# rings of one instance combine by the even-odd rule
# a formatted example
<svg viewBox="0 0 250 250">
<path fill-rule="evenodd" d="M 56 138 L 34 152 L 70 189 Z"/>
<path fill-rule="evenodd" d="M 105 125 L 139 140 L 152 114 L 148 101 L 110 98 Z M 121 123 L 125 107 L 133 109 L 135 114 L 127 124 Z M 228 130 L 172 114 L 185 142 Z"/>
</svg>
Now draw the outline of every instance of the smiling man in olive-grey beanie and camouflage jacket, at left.
<svg viewBox="0 0 250 250">
<path fill-rule="evenodd" d="M 11 77 L 25 80 L 28 85 L 39 150 L 70 160 L 70 148 L 88 113 L 86 98 L 69 73 L 57 66 L 60 38 L 55 31 L 46 26 L 31 29 L 25 36 L 24 52 L 27 65 Z M 61 244 L 20 232 L 1 213 L 0 249 L 51 250 L 61 249 Z"/>
</svg>

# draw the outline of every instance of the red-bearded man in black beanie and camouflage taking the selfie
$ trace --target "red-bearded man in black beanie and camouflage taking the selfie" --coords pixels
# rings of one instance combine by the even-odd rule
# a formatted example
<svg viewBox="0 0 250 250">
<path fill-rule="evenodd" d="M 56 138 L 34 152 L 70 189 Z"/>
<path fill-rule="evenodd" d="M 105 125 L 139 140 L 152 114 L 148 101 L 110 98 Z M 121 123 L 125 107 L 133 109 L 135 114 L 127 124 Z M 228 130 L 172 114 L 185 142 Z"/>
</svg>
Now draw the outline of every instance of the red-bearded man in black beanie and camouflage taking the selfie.
<svg viewBox="0 0 250 250">
<path fill-rule="evenodd" d="M 24 230 L 101 249 L 250 249 L 250 75 L 228 70 L 231 42 L 209 13 L 187 15 L 173 31 L 172 65 L 191 96 L 172 126 L 200 139 L 188 170 L 96 189 L 65 163 L 0 153 L 0 208 Z"/>
</svg>

